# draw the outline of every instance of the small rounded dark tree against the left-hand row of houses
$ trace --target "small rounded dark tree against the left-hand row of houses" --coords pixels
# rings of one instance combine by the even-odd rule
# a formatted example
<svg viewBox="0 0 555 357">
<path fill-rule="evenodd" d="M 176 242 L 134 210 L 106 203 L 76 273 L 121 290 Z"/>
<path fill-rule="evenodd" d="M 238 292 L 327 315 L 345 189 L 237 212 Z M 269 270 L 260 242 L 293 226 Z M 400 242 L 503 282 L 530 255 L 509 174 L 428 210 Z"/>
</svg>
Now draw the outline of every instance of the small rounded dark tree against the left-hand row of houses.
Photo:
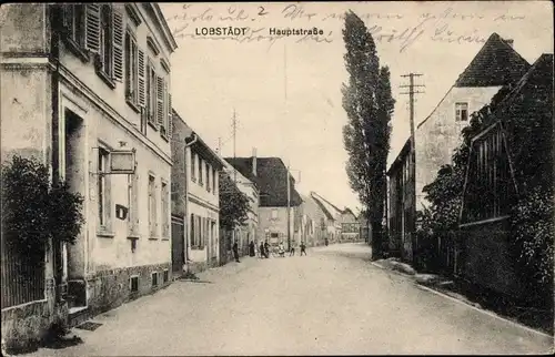
<svg viewBox="0 0 555 357">
<path fill-rule="evenodd" d="M 249 218 L 249 198 L 239 191 L 226 172 L 220 172 L 220 226 L 234 230 Z"/>
</svg>

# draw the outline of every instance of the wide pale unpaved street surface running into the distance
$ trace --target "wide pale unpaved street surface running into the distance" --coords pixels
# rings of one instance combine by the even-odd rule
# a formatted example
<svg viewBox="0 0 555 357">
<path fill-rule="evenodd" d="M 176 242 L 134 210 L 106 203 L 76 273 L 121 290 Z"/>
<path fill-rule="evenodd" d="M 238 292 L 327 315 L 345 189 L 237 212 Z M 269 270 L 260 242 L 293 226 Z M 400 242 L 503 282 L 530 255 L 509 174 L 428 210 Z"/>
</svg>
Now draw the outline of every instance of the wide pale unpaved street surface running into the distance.
<svg viewBox="0 0 555 357">
<path fill-rule="evenodd" d="M 364 244 L 201 273 L 94 317 L 83 344 L 34 356 L 547 354 L 553 338 L 370 264 Z"/>
</svg>

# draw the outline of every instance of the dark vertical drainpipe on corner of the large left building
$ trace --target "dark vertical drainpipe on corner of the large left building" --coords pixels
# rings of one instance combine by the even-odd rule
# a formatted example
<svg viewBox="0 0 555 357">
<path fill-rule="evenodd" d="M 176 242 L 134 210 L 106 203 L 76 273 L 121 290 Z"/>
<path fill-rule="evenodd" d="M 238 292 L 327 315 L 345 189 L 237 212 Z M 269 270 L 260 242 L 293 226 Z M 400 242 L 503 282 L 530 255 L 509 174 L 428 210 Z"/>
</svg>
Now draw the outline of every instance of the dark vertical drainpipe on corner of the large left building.
<svg viewBox="0 0 555 357">
<path fill-rule="evenodd" d="M 60 82 L 60 23 L 62 23 L 61 19 L 61 8 L 48 6 L 47 11 L 50 11 L 50 62 L 56 65 L 56 70 L 52 71 L 51 74 L 51 94 L 52 94 L 52 183 L 57 184 L 60 181 L 60 137 L 59 137 L 59 128 L 60 128 L 60 113 L 59 113 L 59 82 Z M 54 293 L 56 293 L 56 302 L 61 303 L 62 296 L 60 292 L 60 286 L 62 284 L 63 278 L 63 262 L 62 262 L 62 246 L 59 242 L 54 239 L 52 242 L 52 251 L 53 251 L 53 261 L 54 261 Z"/>
</svg>

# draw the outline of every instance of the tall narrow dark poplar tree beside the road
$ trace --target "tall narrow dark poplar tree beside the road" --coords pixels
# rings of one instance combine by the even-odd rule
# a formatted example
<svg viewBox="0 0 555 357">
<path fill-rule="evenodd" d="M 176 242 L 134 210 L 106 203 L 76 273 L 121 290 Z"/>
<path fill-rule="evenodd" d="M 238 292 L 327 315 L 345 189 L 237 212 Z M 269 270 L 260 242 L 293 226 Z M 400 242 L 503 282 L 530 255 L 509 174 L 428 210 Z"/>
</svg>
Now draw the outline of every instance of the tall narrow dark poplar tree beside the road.
<svg viewBox="0 0 555 357">
<path fill-rule="evenodd" d="M 343 40 L 350 76 L 342 88 L 343 109 L 347 114 L 347 124 L 343 128 L 343 142 L 349 153 L 346 173 L 372 228 L 373 258 L 380 258 L 385 243 L 382 226 L 385 171 L 395 100 L 391 94 L 390 70 L 380 68 L 374 39 L 353 11 L 345 14 Z"/>
</svg>

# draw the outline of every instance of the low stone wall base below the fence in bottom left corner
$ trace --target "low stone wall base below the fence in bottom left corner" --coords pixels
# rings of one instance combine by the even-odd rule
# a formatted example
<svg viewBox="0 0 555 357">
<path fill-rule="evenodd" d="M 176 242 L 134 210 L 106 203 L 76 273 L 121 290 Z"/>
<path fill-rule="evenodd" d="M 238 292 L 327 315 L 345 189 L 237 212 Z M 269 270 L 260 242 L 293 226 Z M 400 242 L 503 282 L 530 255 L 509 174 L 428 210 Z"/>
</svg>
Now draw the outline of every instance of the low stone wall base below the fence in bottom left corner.
<svg viewBox="0 0 555 357">
<path fill-rule="evenodd" d="M 53 323 L 65 325 L 68 305 L 56 304 L 53 279 L 47 282 L 46 300 L 2 309 L 2 351 L 32 350 Z"/>
</svg>

